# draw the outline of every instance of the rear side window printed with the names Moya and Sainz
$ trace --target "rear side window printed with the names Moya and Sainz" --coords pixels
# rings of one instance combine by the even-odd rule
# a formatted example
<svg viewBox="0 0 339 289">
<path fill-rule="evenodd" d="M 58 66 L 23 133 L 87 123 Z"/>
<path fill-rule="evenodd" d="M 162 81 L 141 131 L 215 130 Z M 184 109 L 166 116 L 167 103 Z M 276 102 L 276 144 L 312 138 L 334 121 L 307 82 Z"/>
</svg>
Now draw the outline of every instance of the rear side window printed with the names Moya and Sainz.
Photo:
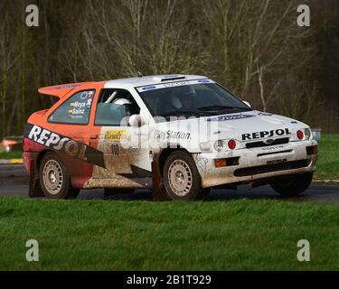
<svg viewBox="0 0 339 289">
<path fill-rule="evenodd" d="M 49 118 L 51 123 L 87 125 L 95 90 L 77 92 L 58 107 Z"/>
</svg>

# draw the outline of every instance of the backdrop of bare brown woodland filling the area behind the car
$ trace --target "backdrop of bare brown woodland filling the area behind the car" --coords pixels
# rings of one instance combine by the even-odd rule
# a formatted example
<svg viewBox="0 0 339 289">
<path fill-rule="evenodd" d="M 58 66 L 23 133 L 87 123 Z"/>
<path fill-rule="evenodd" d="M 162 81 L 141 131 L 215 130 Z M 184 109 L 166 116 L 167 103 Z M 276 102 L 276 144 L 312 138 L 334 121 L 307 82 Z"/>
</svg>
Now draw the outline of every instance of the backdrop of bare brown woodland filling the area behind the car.
<svg viewBox="0 0 339 289">
<path fill-rule="evenodd" d="M 330 82 L 337 75 L 339 4 L 303 3 L 318 12 L 312 29 L 297 26 L 297 0 L 39 1 L 41 26 L 28 29 L 28 0 L 2 0 L 0 133 L 21 133 L 25 117 L 52 104 L 36 96 L 39 87 L 138 70 L 208 75 L 254 108 L 306 121 L 324 116 L 317 122 L 339 129 L 334 109 L 329 115 L 304 101 L 317 103 L 326 91 L 337 105 Z"/>
</svg>

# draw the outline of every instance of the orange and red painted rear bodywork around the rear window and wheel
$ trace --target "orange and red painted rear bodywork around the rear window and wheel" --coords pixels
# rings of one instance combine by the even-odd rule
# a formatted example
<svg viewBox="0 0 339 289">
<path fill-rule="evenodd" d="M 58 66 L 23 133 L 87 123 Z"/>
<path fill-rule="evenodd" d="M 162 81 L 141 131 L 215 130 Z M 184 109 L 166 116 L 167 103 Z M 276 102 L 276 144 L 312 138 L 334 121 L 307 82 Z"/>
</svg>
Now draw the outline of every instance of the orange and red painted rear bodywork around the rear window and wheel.
<svg viewBox="0 0 339 289">
<path fill-rule="evenodd" d="M 67 136 L 71 140 L 79 142 L 80 144 L 86 144 L 92 148 L 96 148 L 99 143 L 100 126 L 94 125 L 95 111 L 97 109 L 97 103 L 99 98 L 100 90 L 104 87 L 105 82 L 80 82 L 58 86 L 51 86 L 42 89 L 38 89 L 42 95 L 48 95 L 60 98 L 50 109 L 41 110 L 33 113 L 29 117 L 28 125 L 41 126 L 52 133 L 56 133 L 62 136 Z M 92 101 L 89 114 L 89 123 L 87 125 L 68 124 L 57 124 L 49 122 L 49 117 L 55 111 L 56 108 L 60 107 L 63 102 L 68 98 L 71 98 L 77 92 L 82 90 L 94 89 L 95 95 Z M 28 172 L 32 171 L 32 165 L 34 165 L 35 172 L 39 167 L 39 160 L 41 155 L 45 152 L 52 151 L 48 147 L 42 144 L 37 144 L 31 139 L 24 138 L 24 165 Z M 57 153 L 62 162 L 68 168 L 71 175 L 71 182 L 73 187 L 82 188 L 83 183 L 86 182 L 92 175 L 93 163 L 86 162 L 77 157 L 70 157 L 69 155 Z"/>
</svg>

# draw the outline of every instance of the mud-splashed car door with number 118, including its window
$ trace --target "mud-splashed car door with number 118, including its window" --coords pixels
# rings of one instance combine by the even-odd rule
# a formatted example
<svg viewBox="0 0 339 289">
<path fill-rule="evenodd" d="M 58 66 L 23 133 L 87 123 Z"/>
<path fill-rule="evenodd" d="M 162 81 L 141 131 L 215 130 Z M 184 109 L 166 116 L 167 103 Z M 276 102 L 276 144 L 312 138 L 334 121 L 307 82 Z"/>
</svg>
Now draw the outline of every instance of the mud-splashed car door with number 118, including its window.
<svg viewBox="0 0 339 289">
<path fill-rule="evenodd" d="M 128 118 L 139 113 L 132 95 L 125 89 L 102 89 L 95 116 L 100 127 L 98 150 L 104 154 L 105 167 L 95 166 L 93 178 L 103 187 L 148 187 L 151 162 L 146 126 L 128 126 Z"/>
</svg>

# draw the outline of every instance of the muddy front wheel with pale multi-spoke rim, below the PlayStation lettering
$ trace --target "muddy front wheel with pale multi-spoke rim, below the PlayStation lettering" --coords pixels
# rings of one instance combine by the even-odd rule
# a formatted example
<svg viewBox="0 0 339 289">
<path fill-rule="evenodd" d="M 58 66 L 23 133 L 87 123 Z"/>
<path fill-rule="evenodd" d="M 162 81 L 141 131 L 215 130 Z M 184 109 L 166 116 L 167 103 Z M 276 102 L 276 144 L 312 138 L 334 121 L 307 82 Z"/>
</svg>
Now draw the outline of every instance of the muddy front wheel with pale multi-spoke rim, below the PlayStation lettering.
<svg viewBox="0 0 339 289">
<path fill-rule="evenodd" d="M 205 197 L 209 190 L 202 189 L 201 178 L 190 154 L 175 151 L 164 165 L 165 190 L 173 200 L 196 200 Z"/>
</svg>

